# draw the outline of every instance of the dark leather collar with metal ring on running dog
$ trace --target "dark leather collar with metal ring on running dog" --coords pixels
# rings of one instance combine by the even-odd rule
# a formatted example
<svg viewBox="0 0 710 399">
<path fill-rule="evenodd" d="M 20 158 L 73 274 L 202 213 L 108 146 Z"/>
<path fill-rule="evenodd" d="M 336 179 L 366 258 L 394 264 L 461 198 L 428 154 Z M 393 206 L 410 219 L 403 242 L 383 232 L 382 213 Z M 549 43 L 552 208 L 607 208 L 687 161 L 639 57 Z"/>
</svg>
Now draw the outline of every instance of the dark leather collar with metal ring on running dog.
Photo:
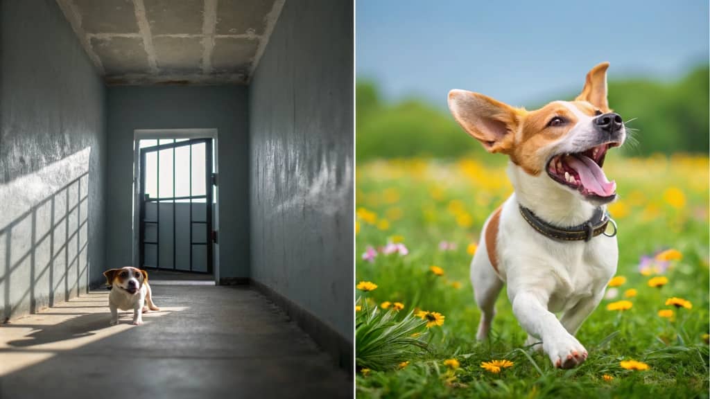
<svg viewBox="0 0 710 399">
<path fill-rule="evenodd" d="M 592 238 L 604 234 L 605 236 L 616 236 L 616 223 L 604 212 L 601 207 L 594 210 L 591 219 L 582 224 L 572 227 L 553 226 L 537 217 L 532 211 L 520 205 L 520 214 L 525 222 L 528 222 L 533 229 L 547 238 L 557 241 L 589 241 Z M 606 234 L 606 226 L 611 222 L 614 227 L 612 234 Z"/>
</svg>

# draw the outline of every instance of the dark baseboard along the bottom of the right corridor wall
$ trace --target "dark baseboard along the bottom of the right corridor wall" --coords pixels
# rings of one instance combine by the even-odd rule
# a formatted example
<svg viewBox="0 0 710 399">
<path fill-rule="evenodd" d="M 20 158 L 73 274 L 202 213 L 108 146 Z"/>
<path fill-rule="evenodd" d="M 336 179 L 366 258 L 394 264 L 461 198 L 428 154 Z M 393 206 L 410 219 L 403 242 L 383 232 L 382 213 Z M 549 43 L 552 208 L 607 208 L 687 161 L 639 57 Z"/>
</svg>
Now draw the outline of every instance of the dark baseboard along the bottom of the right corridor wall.
<svg viewBox="0 0 710 399">
<path fill-rule="evenodd" d="M 315 343 L 326 351 L 340 368 L 351 375 L 353 374 L 354 347 L 351 342 L 311 312 L 303 309 L 300 305 L 277 293 L 267 285 L 250 278 L 246 280 L 249 280 L 249 285 L 258 292 L 266 295 L 269 300 L 285 310 L 286 314 L 296 322 L 298 327 L 310 335 Z"/>
</svg>

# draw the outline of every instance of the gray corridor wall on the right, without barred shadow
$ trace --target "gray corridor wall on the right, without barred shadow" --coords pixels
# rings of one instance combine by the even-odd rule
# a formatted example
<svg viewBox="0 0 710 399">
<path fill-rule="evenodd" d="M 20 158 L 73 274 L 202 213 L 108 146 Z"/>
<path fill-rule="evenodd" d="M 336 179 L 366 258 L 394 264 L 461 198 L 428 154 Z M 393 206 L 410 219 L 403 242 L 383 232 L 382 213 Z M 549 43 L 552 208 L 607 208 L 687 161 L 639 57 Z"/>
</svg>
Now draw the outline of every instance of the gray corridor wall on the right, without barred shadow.
<svg viewBox="0 0 710 399">
<path fill-rule="evenodd" d="M 352 1 L 286 1 L 249 88 L 251 278 L 349 341 L 352 26 Z"/>
</svg>

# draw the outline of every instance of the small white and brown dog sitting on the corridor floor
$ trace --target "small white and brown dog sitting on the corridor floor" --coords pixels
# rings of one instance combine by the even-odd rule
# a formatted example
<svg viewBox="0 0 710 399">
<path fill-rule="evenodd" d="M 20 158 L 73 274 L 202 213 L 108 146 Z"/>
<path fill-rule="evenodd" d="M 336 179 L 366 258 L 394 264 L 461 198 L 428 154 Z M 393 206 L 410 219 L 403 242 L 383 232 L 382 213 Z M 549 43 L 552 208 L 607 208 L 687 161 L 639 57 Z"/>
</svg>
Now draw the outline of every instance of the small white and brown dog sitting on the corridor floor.
<svg viewBox="0 0 710 399">
<path fill-rule="evenodd" d="M 138 326 L 143 324 L 143 312 L 148 312 L 148 309 L 160 310 L 160 307 L 153 303 L 146 270 L 126 266 L 106 270 L 104 276 L 111 290 L 109 293 L 111 325 L 119 324 L 119 309 L 133 310 L 133 324 Z"/>
</svg>

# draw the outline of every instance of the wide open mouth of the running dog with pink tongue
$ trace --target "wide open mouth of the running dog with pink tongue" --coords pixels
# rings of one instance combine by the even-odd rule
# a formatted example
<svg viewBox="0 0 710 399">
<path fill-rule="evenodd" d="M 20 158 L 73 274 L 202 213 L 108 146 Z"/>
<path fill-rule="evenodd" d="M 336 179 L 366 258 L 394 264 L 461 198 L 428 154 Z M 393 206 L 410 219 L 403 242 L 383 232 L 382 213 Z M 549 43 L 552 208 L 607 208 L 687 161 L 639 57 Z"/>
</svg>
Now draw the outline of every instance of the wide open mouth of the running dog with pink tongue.
<svg viewBox="0 0 710 399">
<path fill-rule="evenodd" d="M 584 197 L 611 200 L 616 195 L 616 182 L 610 182 L 601 167 L 609 148 L 618 143 L 604 143 L 579 153 L 557 154 L 547 161 L 547 174 L 552 180 L 577 190 Z"/>
</svg>

